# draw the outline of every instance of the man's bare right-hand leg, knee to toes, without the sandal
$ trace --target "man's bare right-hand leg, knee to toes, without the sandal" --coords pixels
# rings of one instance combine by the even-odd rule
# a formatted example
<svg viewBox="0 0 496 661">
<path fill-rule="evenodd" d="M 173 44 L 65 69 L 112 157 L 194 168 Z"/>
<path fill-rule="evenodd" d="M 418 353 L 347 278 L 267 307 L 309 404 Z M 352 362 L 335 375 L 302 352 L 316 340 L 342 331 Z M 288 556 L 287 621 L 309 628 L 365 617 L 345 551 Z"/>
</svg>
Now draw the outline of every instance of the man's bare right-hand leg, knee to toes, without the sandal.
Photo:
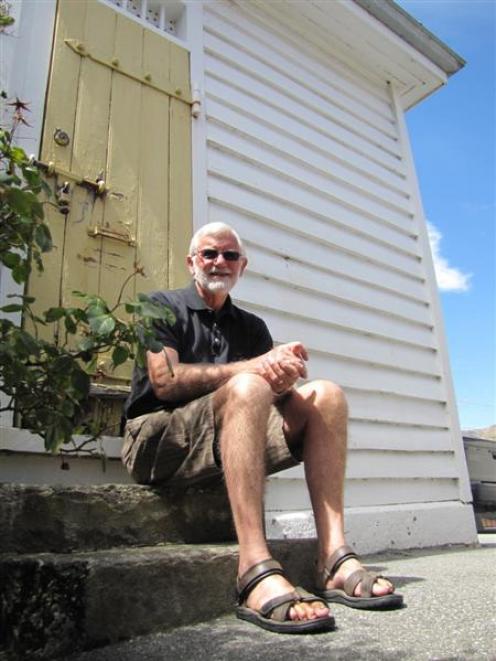
<svg viewBox="0 0 496 661">
<path fill-rule="evenodd" d="M 323 568 L 345 544 L 343 494 L 347 454 L 348 406 L 343 391 L 330 381 L 314 381 L 297 389 L 284 405 L 288 444 L 303 442 L 303 462 L 318 537 L 317 566 Z M 328 588 L 341 588 L 346 577 L 361 567 L 343 563 Z M 392 590 L 389 581 L 374 585 L 376 595 Z M 360 586 L 356 596 L 359 596 Z"/>
</svg>

